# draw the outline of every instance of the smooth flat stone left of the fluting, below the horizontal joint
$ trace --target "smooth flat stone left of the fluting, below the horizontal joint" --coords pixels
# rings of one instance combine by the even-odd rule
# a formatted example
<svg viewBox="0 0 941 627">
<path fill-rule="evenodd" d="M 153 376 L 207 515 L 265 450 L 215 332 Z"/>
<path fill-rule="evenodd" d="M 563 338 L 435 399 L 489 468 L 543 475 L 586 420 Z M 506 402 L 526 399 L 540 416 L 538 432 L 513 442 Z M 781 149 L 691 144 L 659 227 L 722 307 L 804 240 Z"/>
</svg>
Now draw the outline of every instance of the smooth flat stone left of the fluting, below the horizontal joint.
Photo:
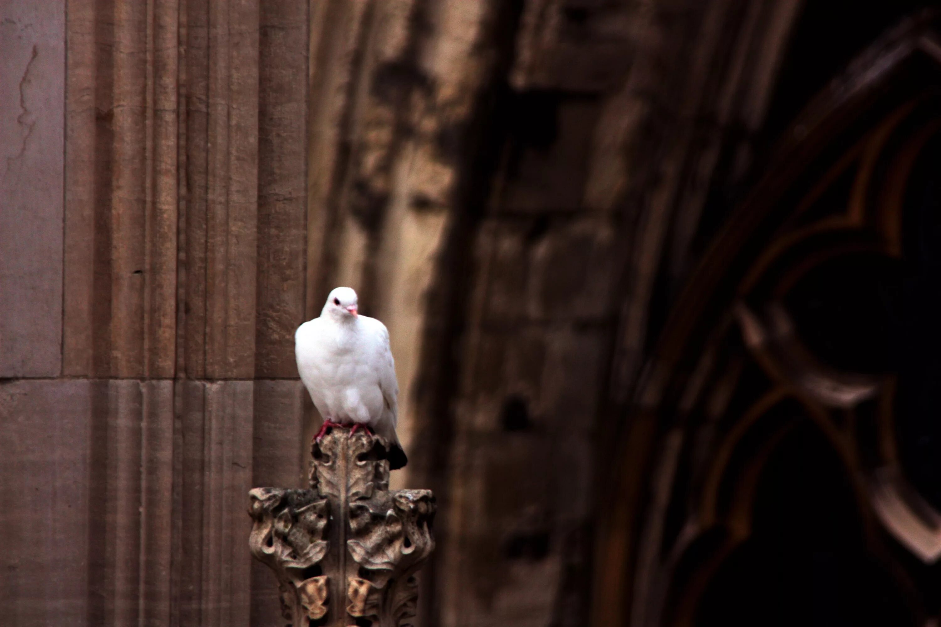
<svg viewBox="0 0 941 627">
<path fill-rule="evenodd" d="M 91 408 L 87 381 L 0 383 L 7 624 L 88 624 Z"/>
</svg>

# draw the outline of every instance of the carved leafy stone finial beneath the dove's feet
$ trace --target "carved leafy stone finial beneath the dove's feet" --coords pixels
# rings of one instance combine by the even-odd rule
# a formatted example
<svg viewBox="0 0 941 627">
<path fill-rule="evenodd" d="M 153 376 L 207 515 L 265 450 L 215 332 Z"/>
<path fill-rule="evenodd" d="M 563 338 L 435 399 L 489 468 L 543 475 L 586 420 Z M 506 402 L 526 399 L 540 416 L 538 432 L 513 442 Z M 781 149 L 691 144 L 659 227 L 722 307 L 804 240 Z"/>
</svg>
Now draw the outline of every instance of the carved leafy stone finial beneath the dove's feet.
<svg viewBox="0 0 941 627">
<path fill-rule="evenodd" d="M 278 577 L 291 627 L 400 627 L 435 548 L 429 490 L 389 490 L 388 443 L 331 429 L 311 447 L 311 489 L 255 488 L 253 556 Z"/>
</svg>

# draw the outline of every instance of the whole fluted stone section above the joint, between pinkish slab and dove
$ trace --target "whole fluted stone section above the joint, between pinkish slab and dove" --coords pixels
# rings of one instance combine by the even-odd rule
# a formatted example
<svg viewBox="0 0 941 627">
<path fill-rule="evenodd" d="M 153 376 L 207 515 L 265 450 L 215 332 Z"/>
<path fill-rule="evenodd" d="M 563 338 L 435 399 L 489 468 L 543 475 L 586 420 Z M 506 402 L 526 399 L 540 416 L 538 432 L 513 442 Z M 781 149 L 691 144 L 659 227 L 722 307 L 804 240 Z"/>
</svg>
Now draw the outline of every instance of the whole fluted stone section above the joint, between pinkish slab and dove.
<svg viewBox="0 0 941 627">
<path fill-rule="evenodd" d="M 65 371 L 295 376 L 306 8 L 74 5 Z"/>
</svg>

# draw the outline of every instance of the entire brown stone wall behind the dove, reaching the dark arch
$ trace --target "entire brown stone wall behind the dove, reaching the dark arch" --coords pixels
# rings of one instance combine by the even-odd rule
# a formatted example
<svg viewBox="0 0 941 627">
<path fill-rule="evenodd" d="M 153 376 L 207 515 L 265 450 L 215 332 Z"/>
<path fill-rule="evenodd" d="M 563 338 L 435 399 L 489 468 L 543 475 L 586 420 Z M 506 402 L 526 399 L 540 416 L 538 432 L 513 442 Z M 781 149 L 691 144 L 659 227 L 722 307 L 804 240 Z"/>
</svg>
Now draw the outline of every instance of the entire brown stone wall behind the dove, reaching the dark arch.
<svg viewBox="0 0 941 627">
<path fill-rule="evenodd" d="M 439 496 L 423 624 L 586 624 L 608 434 L 799 8 L 8 2 L 14 624 L 278 624 L 246 494 L 302 484 L 292 338 L 341 284 Z"/>
</svg>

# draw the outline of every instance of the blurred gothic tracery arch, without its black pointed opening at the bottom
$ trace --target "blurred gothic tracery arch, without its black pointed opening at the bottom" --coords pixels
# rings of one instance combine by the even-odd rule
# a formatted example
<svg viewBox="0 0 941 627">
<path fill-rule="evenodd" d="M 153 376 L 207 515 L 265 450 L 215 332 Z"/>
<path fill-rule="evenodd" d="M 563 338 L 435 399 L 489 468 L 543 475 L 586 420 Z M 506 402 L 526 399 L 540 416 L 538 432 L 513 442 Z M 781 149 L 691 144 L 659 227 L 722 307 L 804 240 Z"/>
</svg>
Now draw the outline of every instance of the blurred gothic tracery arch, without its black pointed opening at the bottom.
<svg viewBox="0 0 941 627">
<path fill-rule="evenodd" d="M 600 587 L 596 603 L 624 608 L 622 624 L 694 624 L 710 577 L 752 538 L 767 460 L 808 424 L 851 486 L 860 555 L 909 618 L 933 615 L 925 569 L 941 557 L 941 508 L 899 444 L 921 388 L 893 347 L 918 341 L 900 329 L 937 219 L 937 27 L 929 13 L 906 20 L 810 103 L 672 308 L 601 525 L 598 576 L 624 588 Z M 643 523 L 618 531 L 631 516 Z"/>
</svg>

